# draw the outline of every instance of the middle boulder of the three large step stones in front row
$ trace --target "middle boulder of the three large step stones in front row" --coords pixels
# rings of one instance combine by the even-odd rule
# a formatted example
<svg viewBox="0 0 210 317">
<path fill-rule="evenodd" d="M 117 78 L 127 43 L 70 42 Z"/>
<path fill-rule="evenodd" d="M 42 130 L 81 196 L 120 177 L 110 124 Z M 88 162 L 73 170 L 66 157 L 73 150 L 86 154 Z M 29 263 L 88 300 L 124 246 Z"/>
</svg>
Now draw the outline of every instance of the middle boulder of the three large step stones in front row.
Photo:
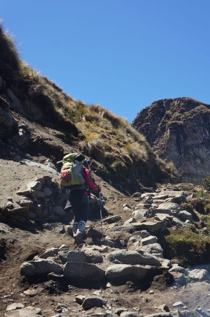
<svg viewBox="0 0 210 317">
<path fill-rule="evenodd" d="M 94 264 L 83 262 L 67 262 L 63 274 L 66 277 L 92 279 L 102 281 L 105 278 L 105 271 Z"/>
</svg>

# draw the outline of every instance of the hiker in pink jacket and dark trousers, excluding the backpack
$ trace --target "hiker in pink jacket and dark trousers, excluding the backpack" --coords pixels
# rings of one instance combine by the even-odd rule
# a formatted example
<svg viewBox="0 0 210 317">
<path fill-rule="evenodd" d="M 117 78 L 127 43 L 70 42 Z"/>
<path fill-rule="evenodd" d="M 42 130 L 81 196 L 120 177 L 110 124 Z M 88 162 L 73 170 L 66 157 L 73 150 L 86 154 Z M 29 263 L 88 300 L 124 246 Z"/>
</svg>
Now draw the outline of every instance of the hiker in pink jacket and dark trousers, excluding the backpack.
<svg viewBox="0 0 210 317">
<path fill-rule="evenodd" d="M 70 194 L 65 206 L 65 209 L 71 207 L 74 214 L 73 223 L 73 238 L 76 243 L 84 243 L 82 235 L 85 228 L 86 222 L 88 220 L 89 211 L 89 199 L 88 190 L 89 187 L 93 190 L 101 191 L 101 186 L 96 186 L 90 179 L 89 164 L 86 159 L 84 159 L 83 154 L 77 155 L 76 161 L 81 162 L 83 168 L 81 171 L 82 177 L 85 180 L 85 184 L 81 185 L 71 185 Z"/>
</svg>

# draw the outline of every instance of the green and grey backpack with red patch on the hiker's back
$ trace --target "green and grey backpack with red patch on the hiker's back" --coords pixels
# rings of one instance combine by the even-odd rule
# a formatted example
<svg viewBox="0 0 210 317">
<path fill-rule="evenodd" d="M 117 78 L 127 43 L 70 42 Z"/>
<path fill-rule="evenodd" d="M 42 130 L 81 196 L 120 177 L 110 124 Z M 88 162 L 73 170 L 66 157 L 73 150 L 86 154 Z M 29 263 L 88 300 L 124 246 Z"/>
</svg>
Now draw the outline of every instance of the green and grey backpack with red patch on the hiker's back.
<svg viewBox="0 0 210 317">
<path fill-rule="evenodd" d="M 82 176 L 82 164 L 76 160 L 78 153 L 67 154 L 63 158 L 63 166 L 60 172 L 60 184 L 65 186 L 81 185 L 85 183 Z"/>
</svg>

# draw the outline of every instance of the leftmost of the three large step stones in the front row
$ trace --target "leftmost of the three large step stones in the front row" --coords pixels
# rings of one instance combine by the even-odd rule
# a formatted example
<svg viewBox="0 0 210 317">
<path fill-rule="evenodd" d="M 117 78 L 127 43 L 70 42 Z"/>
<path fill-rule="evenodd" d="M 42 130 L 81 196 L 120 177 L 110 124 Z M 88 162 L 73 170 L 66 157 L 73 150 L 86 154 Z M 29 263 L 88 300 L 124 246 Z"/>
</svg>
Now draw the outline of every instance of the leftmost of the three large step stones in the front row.
<svg viewBox="0 0 210 317">
<path fill-rule="evenodd" d="M 24 276 L 33 276 L 39 274 L 48 274 L 51 272 L 62 272 L 62 267 L 52 260 L 38 260 L 25 262 L 20 267 L 20 274 Z"/>
</svg>

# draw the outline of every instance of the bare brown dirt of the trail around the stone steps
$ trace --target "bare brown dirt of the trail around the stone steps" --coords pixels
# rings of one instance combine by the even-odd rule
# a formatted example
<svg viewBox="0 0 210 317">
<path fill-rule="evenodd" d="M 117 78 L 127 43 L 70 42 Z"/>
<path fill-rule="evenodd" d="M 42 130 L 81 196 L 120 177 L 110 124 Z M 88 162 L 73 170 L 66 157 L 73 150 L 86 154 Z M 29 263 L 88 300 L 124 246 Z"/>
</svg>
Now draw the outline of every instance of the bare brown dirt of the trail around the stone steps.
<svg viewBox="0 0 210 317">
<path fill-rule="evenodd" d="M 10 172 L 15 169 L 16 178 L 9 183 L 5 183 L 4 189 L 1 189 L 1 200 L 6 200 L 6 197 L 15 197 L 15 187 L 17 181 L 24 183 L 26 180 L 34 179 L 34 176 L 42 176 L 39 168 L 28 168 L 25 165 L 1 160 L 0 166 L 4 177 L 6 177 L 6 168 Z M 19 179 L 18 179 L 19 178 Z M 102 193 L 107 198 L 106 207 L 113 213 L 119 214 L 122 217 L 120 223 L 132 217 L 129 211 L 123 211 L 124 203 L 134 207 L 138 203 L 137 198 L 126 197 L 119 191 L 114 189 L 110 184 L 102 181 L 96 176 L 96 182 L 103 185 Z M 2 187 L 1 187 L 2 188 Z M 91 215 L 90 215 L 91 216 Z M 100 227 L 100 219 L 95 219 L 93 222 L 88 222 L 88 225 Z M 67 213 L 62 222 L 67 225 L 72 220 L 72 214 Z M 119 223 L 119 224 L 120 224 Z M 173 288 L 169 285 L 163 275 L 156 276 L 154 281 L 147 284 L 146 281 L 137 284 L 127 282 L 125 285 L 112 286 L 106 288 L 104 283 L 95 285 L 79 286 L 71 284 L 70 288 L 66 287 L 66 283 L 57 283 L 49 281 L 47 278 L 26 279 L 20 276 L 20 265 L 27 260 L 31 260 L 41 251 L 51 247 L 60 247 L 62 244 L 69 246 L 69 249 L 77 249 L 73 244 L 73 239 L 68 233 L 60 234 L 49 230 L 43 230 L 42 226 L 35 224 L 33 226 L 25 226 L 15 228 L 14 226 L 0 223 L 0 237 L 3 243 L 1 251 L 3 259 L 0 262 L 0 316 L 4 316 L 6 307 L 11 302 L 21 302 L 26 306 L 40 307 L 42 314 L 45 317 L 50 317 L 56 314 L 56 306 L 58 303 L 65 304 L 70 313 L 67 316 L 74 314 L 75 317 L 83 316 L 91 313 L 105 312 L 103 308 L 92 308 L 88 312 L 74 302 L 75 294 L 84 294 L 88 297 L 94 291 L 101 291 L 101 295 L 108 300 L 107 306 L 115 308 L 126 307 L 131 311 L 140 311 L 141 313 L 155 313 L 159 305 L 165 303 L 172 309 L 172 304 L 176 301 L 182 301 L 189 309 L 195 309 L 195 306 L 201 305 L 203 308 L 209 308 L 210 284 L 207 282 L 190 283 L 186 288 L 178 286 Z M 91 243 L 92 239 L 87 238 L 86 242 Z M 101 288 L 101 289 L 100 289 Z M 147 288 L 147 289 L 145 289 Z M 27 289 L 32 289 L 34 295 L 23 295 Z M 154 294 L 149 294 L 153 290 Z M 9 298 L 6 298 L 9 294 Z M 6 297 L 4 297 L 6 296 Z M 24 297 L 23 297 L 24 296 Z"/>
</svg>

